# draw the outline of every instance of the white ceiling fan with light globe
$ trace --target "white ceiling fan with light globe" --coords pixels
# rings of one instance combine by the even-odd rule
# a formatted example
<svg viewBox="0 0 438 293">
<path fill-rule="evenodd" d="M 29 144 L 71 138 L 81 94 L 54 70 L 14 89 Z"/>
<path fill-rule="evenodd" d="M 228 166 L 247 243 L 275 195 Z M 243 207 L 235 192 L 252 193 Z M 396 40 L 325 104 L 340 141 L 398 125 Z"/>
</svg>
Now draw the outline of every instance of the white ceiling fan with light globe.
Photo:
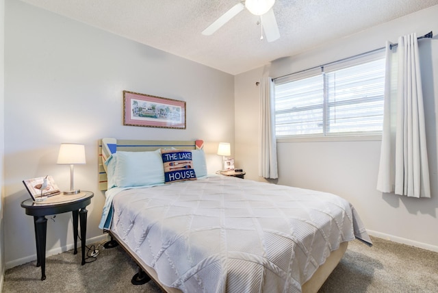
<svg viewBox="0 0 438 293">
<path fill-rule="evenodd" d="M 203 30 L 202 34 L 205 36 L 211 36 L 215 31 L 220 29 L 222 25 L 231 20 L 239 12 L 246 8 L 250 13 L 260 16 L 261 27 L 265 32 L 266 39 L 268 42 L 274 42 L 280 38 L 279 27 L 276 24 L 276 19 L 274 12 L 272 11 L 272 6 L 275 0 L 246 0 L 241 1 L 234 5 L 230 10 L 222 14 L 214 23 L 211 23 L 206 29 Z M 261 35 L 263 39 L 263 34 Z"/>
</svg>

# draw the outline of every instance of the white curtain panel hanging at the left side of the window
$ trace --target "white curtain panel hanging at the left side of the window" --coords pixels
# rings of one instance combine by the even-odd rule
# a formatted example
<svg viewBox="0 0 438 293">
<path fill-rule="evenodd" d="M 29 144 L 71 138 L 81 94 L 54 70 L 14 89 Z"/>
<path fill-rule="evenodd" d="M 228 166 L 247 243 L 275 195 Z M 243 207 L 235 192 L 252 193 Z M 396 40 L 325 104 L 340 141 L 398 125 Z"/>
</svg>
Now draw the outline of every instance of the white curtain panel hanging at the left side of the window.
<svg viewBox="0 0 438 293">
<path fill-rule="evenodd" d="M 260 125 L 259 125 L 259 176 L 278 178 L 275 138 L 274 81 L 262 77 L 260 81 Z"/>
</svg>

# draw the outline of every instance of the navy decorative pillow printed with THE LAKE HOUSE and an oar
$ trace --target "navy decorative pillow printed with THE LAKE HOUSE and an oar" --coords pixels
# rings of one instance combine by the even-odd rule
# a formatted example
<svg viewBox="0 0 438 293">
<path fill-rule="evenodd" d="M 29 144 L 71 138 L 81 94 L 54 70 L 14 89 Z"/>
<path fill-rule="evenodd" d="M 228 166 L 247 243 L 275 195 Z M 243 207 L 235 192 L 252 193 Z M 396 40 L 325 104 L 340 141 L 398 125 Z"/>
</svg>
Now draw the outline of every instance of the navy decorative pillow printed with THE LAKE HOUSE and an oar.
<svg viewBox="0 0 438 293">
<path fill-rule="evenodd" d="M 196 180 L 192 151 L 162 150 L 164 183 Z"/>
</svg>

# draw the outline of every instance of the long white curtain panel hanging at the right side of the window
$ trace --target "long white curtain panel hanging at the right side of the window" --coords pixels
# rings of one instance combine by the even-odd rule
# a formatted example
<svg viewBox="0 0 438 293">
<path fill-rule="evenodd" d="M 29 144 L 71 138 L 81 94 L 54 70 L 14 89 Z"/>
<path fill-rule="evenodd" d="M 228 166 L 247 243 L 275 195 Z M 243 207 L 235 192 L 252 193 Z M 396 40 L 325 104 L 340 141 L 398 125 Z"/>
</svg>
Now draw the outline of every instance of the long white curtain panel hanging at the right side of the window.
<svg viewBox="0 0 438 293">
<path fill-rule="evenodd" d="M 385 112 L 377 190 L 430 197 L 417 35 L 386 47 Z"/>
</svg>

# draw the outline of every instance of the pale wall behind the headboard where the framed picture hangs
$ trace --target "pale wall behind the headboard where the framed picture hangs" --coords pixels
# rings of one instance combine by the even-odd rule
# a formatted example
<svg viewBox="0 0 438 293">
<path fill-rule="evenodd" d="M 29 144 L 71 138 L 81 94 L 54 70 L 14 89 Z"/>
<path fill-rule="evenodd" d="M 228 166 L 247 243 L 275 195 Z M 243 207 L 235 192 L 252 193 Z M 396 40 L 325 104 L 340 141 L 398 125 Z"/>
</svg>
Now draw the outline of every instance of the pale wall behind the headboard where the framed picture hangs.
<svg viewBox="0 0 438 293">
<path fill-rule="evenodd" d="M 87 238 L 96 239 L 104 203 L 97 189 L 99 138 L 200 138 L 214 172 L 218 142 L 234 144 L 233 89 L 232 75 L 6 0 L 5 266 L 36 259 L 33 218 L 20 207 L 29 198 L 21 181 L 52 175 L 61 189 L 69 186 L 68 166 L 56 164 L 61 142 L 86 144 L 87 164 L 75 167 L 75 187 L 94 192 Z M 187 129 L 124 126 L 123 90 L 186 101 Z M 70 218 L 48 220 L 48 254 L 73 245 Z"/>
</svg>

